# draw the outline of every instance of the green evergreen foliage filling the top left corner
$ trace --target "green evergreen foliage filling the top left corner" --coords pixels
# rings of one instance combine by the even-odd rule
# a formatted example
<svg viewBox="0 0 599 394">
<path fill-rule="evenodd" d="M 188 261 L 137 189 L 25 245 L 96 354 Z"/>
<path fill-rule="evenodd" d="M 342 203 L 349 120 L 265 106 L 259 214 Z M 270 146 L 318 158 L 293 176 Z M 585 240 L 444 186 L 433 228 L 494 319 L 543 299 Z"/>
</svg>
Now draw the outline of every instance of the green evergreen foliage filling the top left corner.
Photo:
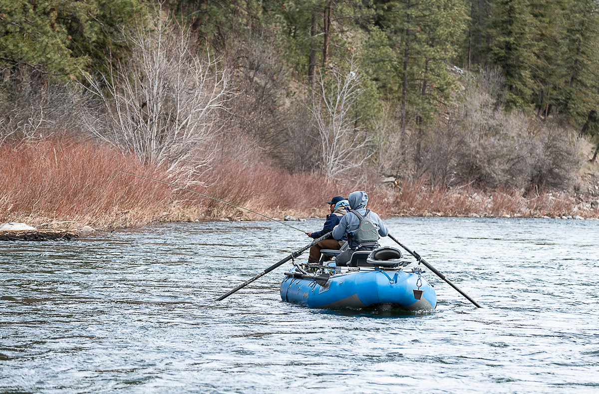
<svg viewBox="0 0 599 394">
<path fill-rule="evenodd" d="M 0 10 L 0 64 L 13 74 L 34 70 L 56 78 L 101 66 L 125 46 L 119 26 L 140 17 L 137 0 L 5 0 Z"/>
</svg>

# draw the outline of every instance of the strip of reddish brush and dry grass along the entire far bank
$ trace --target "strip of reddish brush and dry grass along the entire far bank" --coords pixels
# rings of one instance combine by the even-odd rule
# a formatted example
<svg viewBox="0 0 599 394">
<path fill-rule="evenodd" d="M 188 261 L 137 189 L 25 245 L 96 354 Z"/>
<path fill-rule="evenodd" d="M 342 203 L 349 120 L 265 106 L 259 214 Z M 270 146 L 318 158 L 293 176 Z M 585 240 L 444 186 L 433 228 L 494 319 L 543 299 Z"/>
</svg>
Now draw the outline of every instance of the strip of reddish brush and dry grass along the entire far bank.
<svg viewBox="0 0 599 394">
<path fill-rule="evenodd" d="M 268 164 L 234 159 L 212 163 L 201 177 L 190 178 L 89 141 L 5 145 L 0 157 L 4 175 L 0 178 L 0 223 L 23 222 L 39 229 L 87 225 L 110 230 L 156 222 L 264 219 L 216 199 L 122 172 L 168 181 L 278 219 L 323 217 L 329 198 L 353 190 L 367 190 L 368 206 L 382 217 L 599 218 L 599 186 L 591 170 L 583 191 L 574 193 L 480 190 L 471 185 L 450 188 L 378 179 L 326 183 L 318 174 L 289 174 Z"/>
</svg>

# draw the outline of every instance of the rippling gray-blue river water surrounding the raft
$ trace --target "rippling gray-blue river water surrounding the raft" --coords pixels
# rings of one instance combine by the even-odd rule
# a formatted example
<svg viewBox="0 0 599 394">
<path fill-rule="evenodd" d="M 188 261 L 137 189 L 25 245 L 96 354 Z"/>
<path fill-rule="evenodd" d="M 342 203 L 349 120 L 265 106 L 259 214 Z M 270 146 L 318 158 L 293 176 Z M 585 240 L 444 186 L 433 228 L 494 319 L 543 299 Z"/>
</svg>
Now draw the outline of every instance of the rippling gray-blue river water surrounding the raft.
<svg viewBox="0 0 599 394">
<path fill-rule="evenodd" d="M 310 310 L 289 263 L 213 301 L 310 242 L 274 222 L 0 243 L 0 393 L 599 392 L 599 221 L 386 223 L 484 308 Z"/>
</svg>

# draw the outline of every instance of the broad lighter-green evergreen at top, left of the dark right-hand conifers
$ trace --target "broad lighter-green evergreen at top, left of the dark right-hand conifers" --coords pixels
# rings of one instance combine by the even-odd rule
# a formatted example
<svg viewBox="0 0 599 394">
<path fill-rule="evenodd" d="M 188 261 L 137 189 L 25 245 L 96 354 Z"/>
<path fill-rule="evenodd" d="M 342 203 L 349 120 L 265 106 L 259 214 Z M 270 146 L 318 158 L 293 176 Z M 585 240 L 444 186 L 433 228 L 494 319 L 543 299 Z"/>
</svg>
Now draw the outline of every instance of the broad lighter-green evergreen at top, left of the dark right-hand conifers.
<svg viewBox="0 0 599 394">
<path fill-rule="evenodd" d="M 426 123 L 447 104 L 455 86 L 450 62 L 458 54 L 467 10 L 459 0 L 392 0 L 377 7 L 370 47 L 379 56 L 371 64 L 381 89 L 397 97 L 405 131 L 410 119 Z"/>
</svg>

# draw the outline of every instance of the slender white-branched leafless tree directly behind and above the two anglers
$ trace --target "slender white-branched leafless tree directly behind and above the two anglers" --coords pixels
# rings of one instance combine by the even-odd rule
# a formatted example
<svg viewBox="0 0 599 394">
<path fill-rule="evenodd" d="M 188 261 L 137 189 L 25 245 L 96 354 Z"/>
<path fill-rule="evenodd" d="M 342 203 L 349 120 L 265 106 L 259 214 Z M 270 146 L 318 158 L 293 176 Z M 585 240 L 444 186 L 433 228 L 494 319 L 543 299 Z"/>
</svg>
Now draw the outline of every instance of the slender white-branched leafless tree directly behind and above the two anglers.
<svg viewBox="0 0 599 394">
<path fill-rule="evenodd" d="M 371 138 L 355 114 L 362 93 L 355 63 L 319 74 L 308 110 L 319 134 L 320 168 L 327 179 L 359 168 L 372 156 Z"/>
</svg>

